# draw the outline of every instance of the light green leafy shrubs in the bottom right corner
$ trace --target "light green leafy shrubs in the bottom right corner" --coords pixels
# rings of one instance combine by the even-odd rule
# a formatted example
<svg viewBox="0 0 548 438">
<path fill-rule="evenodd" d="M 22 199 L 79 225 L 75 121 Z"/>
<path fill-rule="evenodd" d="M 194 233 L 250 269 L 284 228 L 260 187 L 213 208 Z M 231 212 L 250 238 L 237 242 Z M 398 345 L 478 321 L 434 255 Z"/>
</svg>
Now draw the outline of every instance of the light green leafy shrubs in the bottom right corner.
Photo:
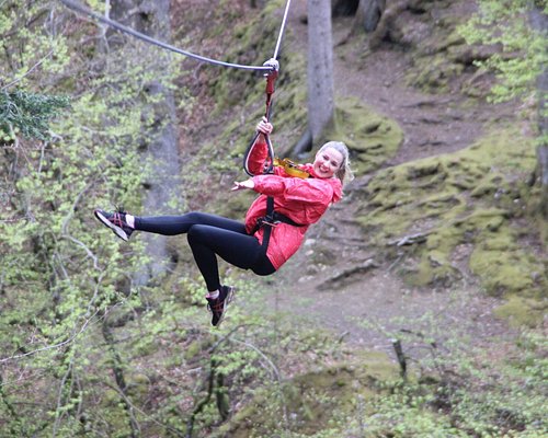
<svg viewBox="0 0 548 438">
<path fill-rule="evenodd" d="M 449 313 L 473 306 L 460 288 L 448 301 Z M 424 313 L 413 321 L 416 330 L 397 318 L 363 324 L 401 342 L 409 376 L 380 382 L 361 419 L 364 436 L 539 437 L 546 430 L 547 343 L 540 331 L 490 336 L 486 348 L 471 336 L 475 322 L 455 324 L 444 313 Z"/>
</svg>

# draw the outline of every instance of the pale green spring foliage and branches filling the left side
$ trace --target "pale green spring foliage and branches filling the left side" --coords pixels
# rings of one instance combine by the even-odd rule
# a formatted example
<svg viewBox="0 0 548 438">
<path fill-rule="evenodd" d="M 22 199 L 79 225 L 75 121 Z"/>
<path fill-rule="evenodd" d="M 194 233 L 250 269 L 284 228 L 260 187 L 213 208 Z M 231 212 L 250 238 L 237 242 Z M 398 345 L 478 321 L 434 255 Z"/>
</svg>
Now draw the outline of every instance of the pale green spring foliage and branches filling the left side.
<svg viewBox="0 0 548 438">
<path fill-rule="evenodd" d="M 0 94 L 1 129 L 15 146 L 0 155 L 0 436 L 127 436 L 132 397 L 148 390 L 113 326 L 150 309 L 133 350 L 150 356 L 153 336 L 176 330 L 152 316 L 175 299 L 152 306 L 160 291 L 132 284 L 147 261 L 142 244 L 122 246 L 93 209 L 140 205 L 150 165 L 138 147 L 153 139 L 146 107 L 160 99 L 146 85 L 171 87 L 172 70 L 149 69 L 139 47 L 85 58 L 95 42 L 81 47 L 80 36 L 96 27 L 48 21 L 57 3 L 8 1 L 0 12 L 2 78 L 21 87 Z M 67 100 L 55 95 L 67 93 L 71 111 L 59 117 Z"/>
</svg>

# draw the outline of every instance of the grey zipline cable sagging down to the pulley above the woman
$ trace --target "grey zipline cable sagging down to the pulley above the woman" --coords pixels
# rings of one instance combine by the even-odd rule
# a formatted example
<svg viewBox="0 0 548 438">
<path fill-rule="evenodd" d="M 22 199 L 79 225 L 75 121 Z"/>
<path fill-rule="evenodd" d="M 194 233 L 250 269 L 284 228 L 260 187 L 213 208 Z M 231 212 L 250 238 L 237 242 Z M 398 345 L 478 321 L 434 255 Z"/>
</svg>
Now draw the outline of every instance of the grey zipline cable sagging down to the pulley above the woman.
<svg viewBox="0 0 548 438">
<path fill-rule="evenodd" d="M 60 2 L 64 3 L 67 8 L 72 9 L 73 11 L 78 11 L 80 13 L 83 13 L 85 15 L 92 16 L 95 20 L 98 20 L 99 22 L 106 24 L 113 28 L 116 28 L 117 31 L 124 32 L 124 33 L 132 35 L 132 36 L 135 36 L 136 38 L 142 39 L 144 42 L 147 42 L 149 44 L 153 44 L 153 45 L 159 46 L 161 48 L 164 48 L 167 50 L 174 51 L 175 54 L 187 56 L 189 58 L 194 58 L 194 59 L 197 59 L 199 61 L 208 62 L 208 64 L 213 64 L 213 65 L 217 65 L 217 66 L 237 68 L 237 69 L 242 69 L 242 70 L 254 70 L 254 71 L 264 71 L 264 72 L 269 72 L 272 70 L 272 68 L 267 67 L 267 66 L 246 66 L 246 65 L 241 65 L 241 64 L 219 61 L 217 59 L 212 59 L 212 58 L 207 58 L 205 56 L 196 55 L 196 54 L 193 54 L 192 51 L 183 50 L 183 49 L 174 47 L 170 44 L 155 39 L 151 36 L 145 35 L 145 34 L 137 32 L 130 27 L 127 27 L 127 26 L 125 26 L 125 25 L 123 25 L 114 20 L 111 20 L 104 15 L 101 15 L 101 14 L 92 11 L 91 9 L 85 8 L 84 5 L 82 5 L 76 1 L 60 0 Z M 284 18 L 284 22 L 283 22 L 283 27 L 282 27 L 282 30 L 279 32 L 279 36 L 278 36 L 278 44 L 279 44 L 279 41 L 282 39 L 282 33 L 283 33 L 284 27 L 285 27 L 285 18 Z M 278 49 L 278 47 L 276 47 L 276 53 L 277 53 L 277 49 Z"/>
</svg>

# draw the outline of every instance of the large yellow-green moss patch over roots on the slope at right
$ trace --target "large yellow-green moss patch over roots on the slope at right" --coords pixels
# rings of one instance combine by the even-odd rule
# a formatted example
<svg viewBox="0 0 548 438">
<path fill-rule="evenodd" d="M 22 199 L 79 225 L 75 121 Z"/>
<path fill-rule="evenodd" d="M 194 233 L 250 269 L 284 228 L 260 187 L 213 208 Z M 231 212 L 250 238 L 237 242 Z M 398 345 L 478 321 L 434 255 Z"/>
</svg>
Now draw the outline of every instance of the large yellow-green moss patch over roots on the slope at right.
<svg viewBox="0 0 548 438">
<path fill-rule="evenodd" d="M 398 249 L 407 254 L 400 273 L 412 285 L 448 285 L 460 278 L 452 253 L 469 243 L 469 267 L 487 293 L 543 299 L 547 260 L 530 254 L 515 226 L 526 215 L 526 174 L 535 160 L 530 141 L 509 129 L 456 153 L 383 170 L 367 187 L 357 221 L 369 243 L 381 249 L 406 235 L 425 237 L 422 244 Z"/>
</svg>

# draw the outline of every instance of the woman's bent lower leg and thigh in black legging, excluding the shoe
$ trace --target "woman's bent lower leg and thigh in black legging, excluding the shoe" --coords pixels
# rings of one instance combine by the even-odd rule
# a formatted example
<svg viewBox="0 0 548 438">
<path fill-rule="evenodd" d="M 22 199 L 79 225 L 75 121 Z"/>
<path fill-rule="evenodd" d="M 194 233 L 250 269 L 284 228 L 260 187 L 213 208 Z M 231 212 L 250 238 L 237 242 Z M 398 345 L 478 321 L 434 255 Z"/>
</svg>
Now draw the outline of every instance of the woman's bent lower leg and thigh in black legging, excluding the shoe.
<svg viewBox="0 0 548 438">
<path fill-rule="evenodd" d="M 190 229 L 187 238 L 194 260 L 209 291 L 217 290 L 220 286 L 216 255 L 242 269 L 255 270 L 258 266 L 259 275 L 270 275 L 275 272 L 263 247 L 253 235 L 196 224 Z"/>
</svg>

